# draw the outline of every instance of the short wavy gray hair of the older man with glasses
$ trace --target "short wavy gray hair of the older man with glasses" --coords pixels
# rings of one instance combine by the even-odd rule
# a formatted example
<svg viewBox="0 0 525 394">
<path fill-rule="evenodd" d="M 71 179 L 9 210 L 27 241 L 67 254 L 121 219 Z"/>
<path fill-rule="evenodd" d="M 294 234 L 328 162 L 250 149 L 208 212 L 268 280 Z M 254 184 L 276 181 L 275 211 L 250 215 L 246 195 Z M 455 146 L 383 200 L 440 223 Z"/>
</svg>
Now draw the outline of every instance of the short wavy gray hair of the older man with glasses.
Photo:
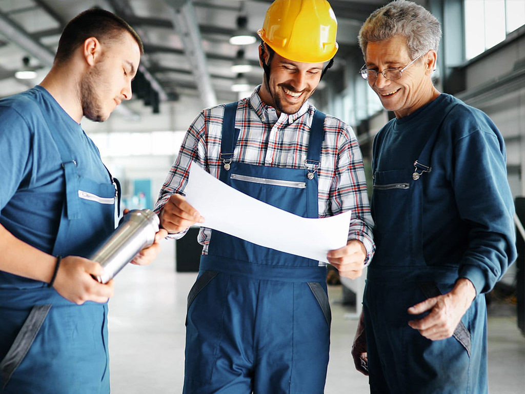
<svg viewBox="0 0 525 394">
<path fill-rule="evenodd" d="M 368 43 L 398 35 L 406 37 L 408 53 L 415 59 L 430 49 L 437 51 L 441 27 L 436 17 L 422 6 L 406 0 L 397 0 L 376 9 L 365 20 L 359 30 L 359 46 L 366 56 Z"/>
</svg>

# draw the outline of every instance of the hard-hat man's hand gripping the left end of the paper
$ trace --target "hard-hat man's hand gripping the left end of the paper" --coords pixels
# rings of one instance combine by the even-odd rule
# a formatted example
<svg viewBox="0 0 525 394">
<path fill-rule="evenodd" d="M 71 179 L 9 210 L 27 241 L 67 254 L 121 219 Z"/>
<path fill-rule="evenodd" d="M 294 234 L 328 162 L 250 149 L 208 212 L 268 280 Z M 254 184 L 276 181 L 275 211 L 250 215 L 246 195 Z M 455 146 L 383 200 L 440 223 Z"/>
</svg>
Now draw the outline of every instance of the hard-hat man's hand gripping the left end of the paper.
<svg viewBox="0 0 525 394">
<path fill-rule="evenodd" d="M 159 219 L 169 234 L 180 233 L 195 223 L 204 223 L 204 217 L 186 202 L 181 194 L 172 194 L 164 204 Z"/>
</svg>

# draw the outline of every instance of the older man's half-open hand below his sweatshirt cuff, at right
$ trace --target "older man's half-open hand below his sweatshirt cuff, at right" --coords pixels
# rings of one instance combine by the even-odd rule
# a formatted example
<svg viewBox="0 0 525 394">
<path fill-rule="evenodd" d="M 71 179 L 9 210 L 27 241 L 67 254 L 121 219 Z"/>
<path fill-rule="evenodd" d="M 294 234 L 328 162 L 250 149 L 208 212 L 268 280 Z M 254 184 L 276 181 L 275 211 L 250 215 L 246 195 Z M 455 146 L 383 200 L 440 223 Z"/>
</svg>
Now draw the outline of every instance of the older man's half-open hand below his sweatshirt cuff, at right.
<svg viewBox="0 0 525 394">
<path fill-rule="evenodd" d="M 424 318 L 411 320 L 408 325 L 430 340 L 450 338 L 474 298 L 476 289 L 472 282 L 460 278 L 449 293 L 428 298 L 408 308 L 408 313 L 412 315 L 430 310 Z"/>
</svg>

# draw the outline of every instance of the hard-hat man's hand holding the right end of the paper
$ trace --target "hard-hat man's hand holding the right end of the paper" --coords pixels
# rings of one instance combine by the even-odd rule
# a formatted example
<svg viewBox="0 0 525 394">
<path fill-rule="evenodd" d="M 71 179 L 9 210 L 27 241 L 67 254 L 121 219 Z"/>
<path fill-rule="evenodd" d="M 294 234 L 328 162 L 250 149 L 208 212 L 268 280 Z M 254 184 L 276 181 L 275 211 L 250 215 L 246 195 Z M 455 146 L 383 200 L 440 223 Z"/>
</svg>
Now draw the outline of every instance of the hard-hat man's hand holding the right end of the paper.
<svg viewBox="0 0 525 394">
<path fill-rule="evenodd" d="M 363 274 L 366 248 L 358 240 L 350 240 L 340 249 L 328 252 L 328 262 L 338 269 L 341 276 L 351 279 Z"/>
</svg>

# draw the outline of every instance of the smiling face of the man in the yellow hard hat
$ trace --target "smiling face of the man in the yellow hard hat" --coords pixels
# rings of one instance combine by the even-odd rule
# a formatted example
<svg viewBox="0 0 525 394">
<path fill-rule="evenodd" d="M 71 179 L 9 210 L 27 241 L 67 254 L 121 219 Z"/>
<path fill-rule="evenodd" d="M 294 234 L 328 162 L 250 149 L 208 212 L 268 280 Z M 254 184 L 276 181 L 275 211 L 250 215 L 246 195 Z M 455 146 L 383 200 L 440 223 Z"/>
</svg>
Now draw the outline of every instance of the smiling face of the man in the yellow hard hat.
<svg viewBox="0 0 525 394">
<path fill-rule="evenodd" d="M 264 60 L 268 61 L 268 51 Z M 275 53 L 270 63 L 269 84 L 266 78 L 259 91 L 262 101 L 281 112 L 299 111 L 319 85 L 323 63 L 301 63 Z"/>
</svg>

